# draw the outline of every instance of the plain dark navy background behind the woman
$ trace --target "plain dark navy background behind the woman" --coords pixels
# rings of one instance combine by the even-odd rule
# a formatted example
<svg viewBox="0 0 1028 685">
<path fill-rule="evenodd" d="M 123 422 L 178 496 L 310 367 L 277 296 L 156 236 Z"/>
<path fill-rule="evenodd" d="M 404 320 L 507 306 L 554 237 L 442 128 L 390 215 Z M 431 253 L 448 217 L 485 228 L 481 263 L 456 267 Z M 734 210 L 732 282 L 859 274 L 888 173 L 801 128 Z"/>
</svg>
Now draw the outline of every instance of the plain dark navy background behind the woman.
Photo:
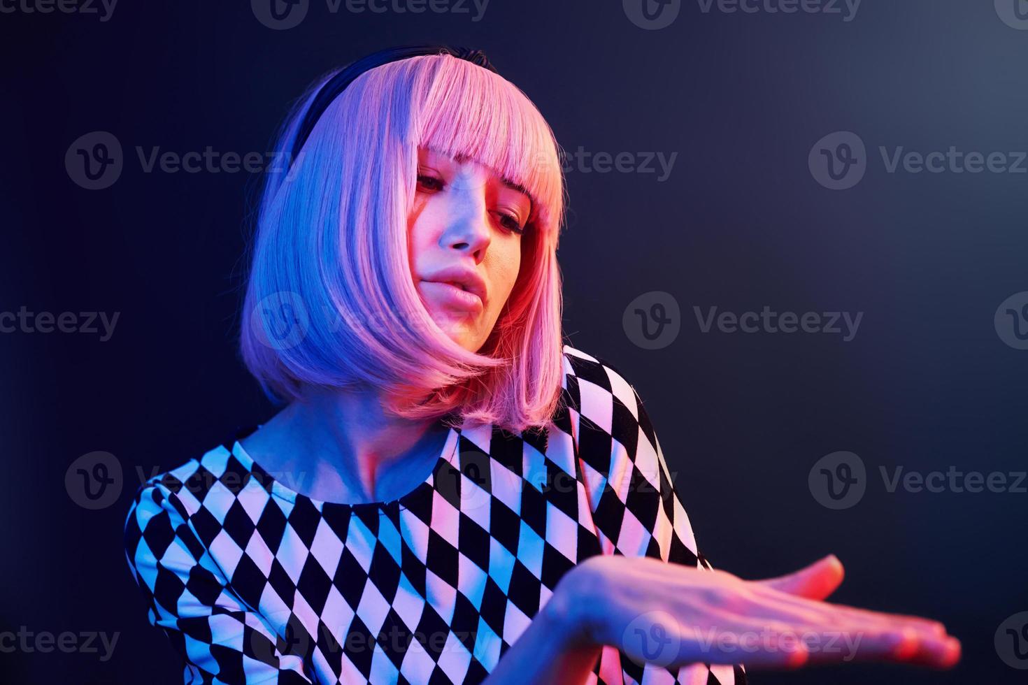
<svg viewBox="0 0 1028 685">
<path fill-rule="evenodd" d="M 145 173 L 136 147 L 266 151 L 289 102 L 325 70 L 435 41 L 485 49 L 570 152 L 677 153 L 664 182 L 568 170 L 558 257 L 573 345 L 617 366 L 646 401 L 713 564 L 759 578 L 835 553 L 847 579 L 834 601 L 938 618 L 964 649 L 948 673 L 850 664 L 752 682 L 1028 680 L 993 643 L 1028 610 L 1028 495 L 889 493 L 878 474 L 1028 462 L 1028 350 L 993 324 L 1028 291 L 1028 175 L 889 174 L 878 152 L 1028 150 L 1028 31 L 991 0 L 865 0 L 850 22 L 684 0 L 660 30 L 594 0 L 491 0 L 477 22 L 473 5 L 332 13 L 310 0 L 288 30 L 247 2 L 122 0 L 106 22 L 16 7 L 0 13 L 0 310 L 120 316 L 106 342 L 0 335 L 0 630 L 120 636 L 108 661 L 0 654 L 4 682 L 181 682 L 125 562 L 128 501 L 140 473 L 272 412 L 233 343 L 259 175 Z M 65 154 L 97 130 L 118 139 L 124 168 L 86 190 Z M 839 130 L 868 148 L 864 180 L 842 191 L 808 167 L 815 142 Z M 647 350 L 622 314 L 652 291 L 673 296 L 681 334 Z M 693 312 L 765 305 L 864 318 L 843 342 L 703 334 Z M 123 484 L 89 510 L 65 472 L 98 450 L 116 456 Z M 831 510 L 807 477 L 840 450 L 860 456 L 869 483 L 858 504 Z"/>
</svg>

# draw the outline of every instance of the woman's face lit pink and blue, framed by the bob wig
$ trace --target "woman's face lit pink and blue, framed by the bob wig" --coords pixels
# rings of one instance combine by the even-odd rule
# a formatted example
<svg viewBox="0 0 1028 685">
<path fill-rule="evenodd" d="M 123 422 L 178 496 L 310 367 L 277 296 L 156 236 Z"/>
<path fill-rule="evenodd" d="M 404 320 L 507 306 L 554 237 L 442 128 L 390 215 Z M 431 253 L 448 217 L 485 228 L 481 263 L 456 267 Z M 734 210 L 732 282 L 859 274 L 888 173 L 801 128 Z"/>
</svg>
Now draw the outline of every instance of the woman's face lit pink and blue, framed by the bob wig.
<svg viewBox="0 0 1028 685">
<path fill-rule="evenodd" d="M 433 320 L 469 351 L 485 343 L 514 289 L 530 212 L 528 195 L 492 169 L 418 150 L 411 275 Z"/>
</svg>

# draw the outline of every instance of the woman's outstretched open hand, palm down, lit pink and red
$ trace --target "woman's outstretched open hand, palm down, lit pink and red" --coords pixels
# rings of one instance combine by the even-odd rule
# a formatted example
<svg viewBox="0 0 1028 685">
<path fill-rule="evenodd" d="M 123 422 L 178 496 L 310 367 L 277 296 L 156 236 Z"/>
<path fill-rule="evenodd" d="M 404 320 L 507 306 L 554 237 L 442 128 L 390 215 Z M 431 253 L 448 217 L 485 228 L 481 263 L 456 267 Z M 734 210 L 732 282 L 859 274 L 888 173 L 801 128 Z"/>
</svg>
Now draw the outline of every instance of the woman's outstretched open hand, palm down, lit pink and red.
<svg viewBox="0 0 1028 685">
<path fill-rule="evenodd" d="M 834 556 L 788 575 L 743 580 L 604 555 L 570 571 L 550 609 L 571 617 L 584 644 L 615 645 L 639 663 L 668 668 L 887 661 L 948 669 L 959 660 L 959 641 L 938 621 L 824 602 L 843 576 Z"/>
</svg>

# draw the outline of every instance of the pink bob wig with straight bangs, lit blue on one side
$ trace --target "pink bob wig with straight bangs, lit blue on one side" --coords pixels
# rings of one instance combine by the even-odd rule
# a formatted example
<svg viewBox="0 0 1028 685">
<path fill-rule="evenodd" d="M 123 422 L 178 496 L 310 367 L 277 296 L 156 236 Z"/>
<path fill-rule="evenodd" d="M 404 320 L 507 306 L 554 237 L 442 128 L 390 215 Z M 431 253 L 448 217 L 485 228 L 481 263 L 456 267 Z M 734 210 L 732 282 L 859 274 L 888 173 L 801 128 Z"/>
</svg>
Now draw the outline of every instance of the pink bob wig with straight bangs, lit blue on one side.
<svg viewBox="0 0 1028 685">
<path fill-rule="evenodd" d="M 279 158 L 329 78 L 297 101 Z M 477 352 L 436 325 L 411 275 L 419 147 L 491 167 L 531 197 L 514 290 Z M 305 386 L 376 390 L 405 418 L 545 425 L 560 401 L 564 343 L 559 154 L 531 101 L 466 60 L 418 55 L 358 76 L 262 190 L 240 350 L 265 394 L 281 405 Z"/>
</svg>

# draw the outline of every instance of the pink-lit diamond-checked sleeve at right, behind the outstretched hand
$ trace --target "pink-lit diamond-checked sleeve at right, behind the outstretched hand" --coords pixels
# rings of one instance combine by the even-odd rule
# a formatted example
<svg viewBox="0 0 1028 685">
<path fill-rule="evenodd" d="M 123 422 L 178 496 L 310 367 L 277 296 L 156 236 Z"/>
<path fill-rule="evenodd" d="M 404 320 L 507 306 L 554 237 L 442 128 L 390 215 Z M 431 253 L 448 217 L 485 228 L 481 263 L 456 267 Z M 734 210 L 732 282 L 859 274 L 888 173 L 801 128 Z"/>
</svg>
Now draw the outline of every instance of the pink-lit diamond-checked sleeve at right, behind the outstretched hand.
<svg viewBox="0 0 1028 685">
<path fill-rule="evenodd" d="M 602 554 L 711 569 L 635 388 L 601 358 L 570 355 L 568 360 L 570 405 L 577 410 L 573 416 L 578 414 L 573 442 Z M 626 685 L 746 683 L 740 664 L 696 663 L 672 673 L 652 663 L 640 667 L 615 647 L 603 649 L 597 674 L 601 682 Z"/>
</svg>

